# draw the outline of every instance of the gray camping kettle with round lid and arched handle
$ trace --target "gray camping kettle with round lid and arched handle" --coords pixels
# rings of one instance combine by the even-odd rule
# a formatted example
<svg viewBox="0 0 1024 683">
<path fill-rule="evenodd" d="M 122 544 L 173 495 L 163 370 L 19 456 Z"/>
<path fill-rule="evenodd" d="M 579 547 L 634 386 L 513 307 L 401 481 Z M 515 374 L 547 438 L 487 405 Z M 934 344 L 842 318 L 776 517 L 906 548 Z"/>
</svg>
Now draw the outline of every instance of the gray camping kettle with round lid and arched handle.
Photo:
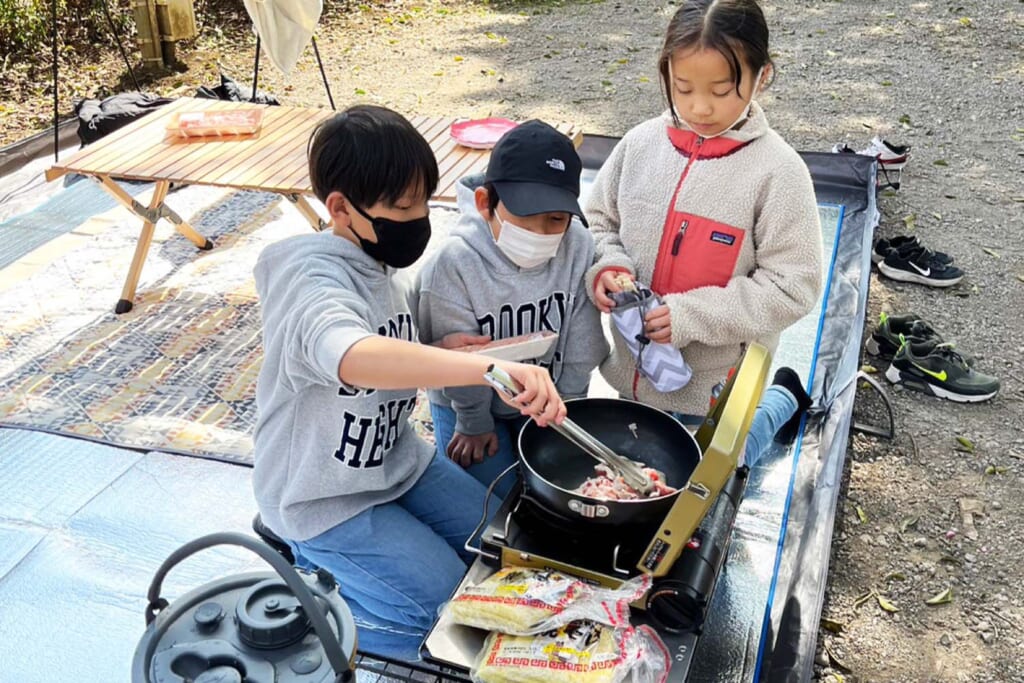
<svg viewBox="0 0 1024 683">
<path fill-rule="evenodd" d="M 160 597 L 184 558 L 218 545 L 247 548 L 274 568 L 225 577 Z M 263 543 L 223 532 L 171 553 L 150 585 L 132 683 L 341 683 L 354 680 L 355 623 L 326 571 L 296 571 Z M 330 624 L 328 615 L 334 624 Z"/>
</svg>

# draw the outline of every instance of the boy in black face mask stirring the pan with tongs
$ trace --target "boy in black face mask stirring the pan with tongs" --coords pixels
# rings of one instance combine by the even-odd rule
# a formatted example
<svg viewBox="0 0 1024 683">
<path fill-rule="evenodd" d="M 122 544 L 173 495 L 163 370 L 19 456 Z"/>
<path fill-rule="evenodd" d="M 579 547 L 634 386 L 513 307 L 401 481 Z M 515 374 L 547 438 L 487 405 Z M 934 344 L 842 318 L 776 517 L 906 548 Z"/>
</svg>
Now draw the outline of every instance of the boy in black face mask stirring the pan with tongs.
<svg viewBox="0 0 1024 683">
<path fill-rule="evenodd" d="M 485 489 L 437 458 L 408 418 L 416 387 L 485 386 L 488 360 L 416 343 L 396 268 L 427 245 L 438 180 L 417 130 L 389 110 L 354 106 L 313 132 L 309 176 L 333 229 L 271 245 L 255 268 L 256 503 L 296 564 L 338 579 L 360 649 L 416 659 L 472 559 L 463 544 Z M 564 418 L 547 372 L 498 365 L 524 387 L 524 415 Z"/>
</svg>

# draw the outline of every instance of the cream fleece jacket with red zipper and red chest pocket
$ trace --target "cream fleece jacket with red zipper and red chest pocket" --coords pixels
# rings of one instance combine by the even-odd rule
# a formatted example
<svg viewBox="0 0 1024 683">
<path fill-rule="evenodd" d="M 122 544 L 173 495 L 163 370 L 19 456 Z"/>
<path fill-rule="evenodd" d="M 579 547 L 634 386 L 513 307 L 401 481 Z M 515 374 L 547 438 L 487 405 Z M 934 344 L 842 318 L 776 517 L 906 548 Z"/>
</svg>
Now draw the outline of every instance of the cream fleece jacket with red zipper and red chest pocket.
<svg viewBox="0 0 1024 683">
<path fill-rule="evenodd" d="M 813 308 L 821 226 L 807 166 L 757 102 L 740 128 L 718 138 L 682 126 L 668 113 L 646 121 L 602 166 L 584 207 L 597 250 L 587 292 L 593 297 L 597 276 L 617 268 L 662 295 L 690 383 L 654 390 L 636 376 L 617 330 L 601 374 L 624 395 L 703 415 L 746 344 L 774 351 L 782 330 Z"/>
</svg>

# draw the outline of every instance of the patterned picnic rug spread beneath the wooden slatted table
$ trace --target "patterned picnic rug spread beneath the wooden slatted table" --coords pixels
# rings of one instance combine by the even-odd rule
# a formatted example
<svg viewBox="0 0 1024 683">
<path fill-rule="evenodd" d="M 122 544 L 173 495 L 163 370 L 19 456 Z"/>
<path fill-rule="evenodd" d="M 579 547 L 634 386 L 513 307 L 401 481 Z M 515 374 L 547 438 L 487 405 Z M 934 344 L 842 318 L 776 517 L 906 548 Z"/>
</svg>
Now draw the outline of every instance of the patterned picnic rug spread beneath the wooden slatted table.
<svg viewBox="0 0 1024 683">
<path fill-rule="evenodd" d="M 215 247 L 200 252 L 159 225 L 128 313 L 113 306 L 139 221 L 121 209 L 68 217 L 81 221 L 73 248 L 2 281 L 0 424 L 251 462 L 261 358 L 252 265 L 266 244 L 309 228 L 272 195 L 188 187 L 168 204 Z"/>
</svg>

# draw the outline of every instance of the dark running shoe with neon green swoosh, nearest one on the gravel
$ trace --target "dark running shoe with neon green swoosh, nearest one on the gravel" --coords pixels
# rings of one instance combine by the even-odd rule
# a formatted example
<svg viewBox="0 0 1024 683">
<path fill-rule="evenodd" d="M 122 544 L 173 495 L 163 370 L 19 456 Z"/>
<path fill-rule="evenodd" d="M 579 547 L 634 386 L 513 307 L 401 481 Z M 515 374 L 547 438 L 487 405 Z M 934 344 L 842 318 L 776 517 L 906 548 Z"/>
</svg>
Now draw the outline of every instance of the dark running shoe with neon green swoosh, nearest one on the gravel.
<svg viewBox="0 0 1024 683">
<path fill-rule="evenodd" d="M 952 344 L 934 339 L 906 339 L 886 371 L 886 379 L 957 403 L 988 400 L 999 391 L 997 378 L 975 372 Z"/>
</svg>

